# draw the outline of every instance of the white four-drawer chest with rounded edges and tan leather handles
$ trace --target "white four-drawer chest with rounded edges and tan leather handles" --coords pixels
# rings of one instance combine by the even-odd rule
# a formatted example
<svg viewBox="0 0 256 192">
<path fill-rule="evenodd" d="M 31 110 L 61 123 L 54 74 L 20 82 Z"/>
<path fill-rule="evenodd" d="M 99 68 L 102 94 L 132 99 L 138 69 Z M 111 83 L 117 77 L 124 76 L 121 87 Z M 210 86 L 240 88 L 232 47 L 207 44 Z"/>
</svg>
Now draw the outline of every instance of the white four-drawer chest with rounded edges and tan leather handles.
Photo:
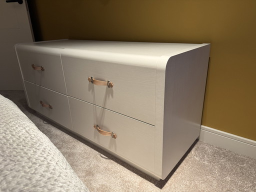
<svg viewBox="0 0 256 192">
<path fill-rule="evenodd" d="M 55 40 L 15 50 L 29 107 L 164 179 L 199 136 L 209 47 Z"/>
</svg>

